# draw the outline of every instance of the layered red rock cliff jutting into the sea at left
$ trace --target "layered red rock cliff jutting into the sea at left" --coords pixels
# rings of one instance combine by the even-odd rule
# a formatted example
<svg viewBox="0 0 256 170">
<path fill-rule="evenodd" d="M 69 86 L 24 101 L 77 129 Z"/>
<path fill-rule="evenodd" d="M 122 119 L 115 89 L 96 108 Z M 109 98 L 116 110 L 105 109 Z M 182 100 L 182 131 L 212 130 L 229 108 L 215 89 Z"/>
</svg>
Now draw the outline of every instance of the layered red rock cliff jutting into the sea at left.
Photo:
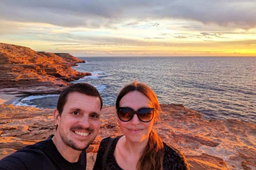
<svg viewBox="0 0 256 170">
<path fill-rule="evenodd" d="M 68 53 L 36 52 L 0 43 L 0 92 L 58 93 L 69 81 L 91 75 L 71 69 L 75 63 L 83 62 Z"/>
</svg>

